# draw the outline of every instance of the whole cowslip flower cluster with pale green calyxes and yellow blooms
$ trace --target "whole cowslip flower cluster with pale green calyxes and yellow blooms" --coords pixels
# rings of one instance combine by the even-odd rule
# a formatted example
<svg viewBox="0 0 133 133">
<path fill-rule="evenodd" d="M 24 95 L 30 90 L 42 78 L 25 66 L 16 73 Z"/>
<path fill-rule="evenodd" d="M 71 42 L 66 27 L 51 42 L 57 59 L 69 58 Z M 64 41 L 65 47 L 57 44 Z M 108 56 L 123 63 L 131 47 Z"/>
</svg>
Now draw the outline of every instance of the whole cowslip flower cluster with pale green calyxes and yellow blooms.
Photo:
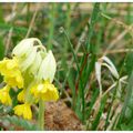
<svg viewBox="0 0 133 133">
<path fill-rule="evenodd" d="M 0 74 L 6 85 L 0 89 L 0 102 L 11 105 L 11 89 L 20 89 L 14 114 L 31 120 L 31 105 L 40 100 L 57 101 L 58 89 L 52 84 L 57 63 L 51 50 L 47 51 L 37 38 L 24 39 L 12 50 L 11 59 L 0 61 Z"/>
</svg>

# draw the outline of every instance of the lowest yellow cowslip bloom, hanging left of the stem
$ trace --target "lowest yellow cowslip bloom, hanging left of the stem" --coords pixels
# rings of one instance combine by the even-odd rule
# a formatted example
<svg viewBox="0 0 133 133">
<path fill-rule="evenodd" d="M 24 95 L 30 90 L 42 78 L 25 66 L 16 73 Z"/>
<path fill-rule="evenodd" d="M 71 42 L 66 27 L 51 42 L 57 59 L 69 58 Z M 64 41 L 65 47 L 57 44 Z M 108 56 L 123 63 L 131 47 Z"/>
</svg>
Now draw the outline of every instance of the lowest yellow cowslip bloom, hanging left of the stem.
<svg viewBox="0 0 133 133">
<path fill-rule="evenodd" d="M 31 105 L 29 103 L 17 105 L 13 110 L 14 114 L 18 116 L 22 116 L 25 120 L 32 119 Z"/>
</svg>

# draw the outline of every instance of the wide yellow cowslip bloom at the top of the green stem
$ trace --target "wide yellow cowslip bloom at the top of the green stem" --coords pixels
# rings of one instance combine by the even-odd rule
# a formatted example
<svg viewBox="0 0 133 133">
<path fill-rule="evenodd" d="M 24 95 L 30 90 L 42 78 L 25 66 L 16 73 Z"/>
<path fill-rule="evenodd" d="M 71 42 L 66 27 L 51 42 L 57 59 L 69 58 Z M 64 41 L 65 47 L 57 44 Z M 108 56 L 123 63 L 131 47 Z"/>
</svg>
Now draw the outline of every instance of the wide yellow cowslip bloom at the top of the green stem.
<svg viewBox="0 0 133 133">
<path fill-rule="evenodd" d="M 57 88 L 49 81 L 34 85 L 31 89 L 31 93 L 37 99 L 42 99 L 43 101 L 57 101 L 59 99 L 59 92 Z"/>
</svg>

